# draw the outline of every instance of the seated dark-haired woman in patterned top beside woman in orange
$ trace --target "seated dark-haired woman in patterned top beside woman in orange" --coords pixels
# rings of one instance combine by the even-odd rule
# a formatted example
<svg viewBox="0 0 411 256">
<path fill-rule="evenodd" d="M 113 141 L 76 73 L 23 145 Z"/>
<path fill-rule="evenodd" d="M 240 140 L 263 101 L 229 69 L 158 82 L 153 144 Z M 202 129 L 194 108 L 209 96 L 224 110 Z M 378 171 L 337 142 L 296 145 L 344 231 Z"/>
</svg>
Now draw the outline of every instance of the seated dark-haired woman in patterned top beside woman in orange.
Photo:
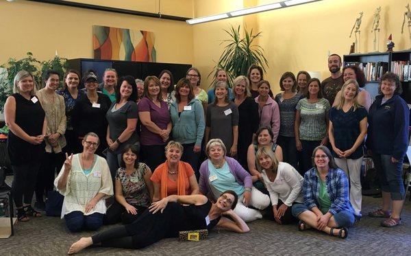
<svg viewBox="0 0 411 256">
<path fill-rule="evenodd" d="M 151 170 L 145 163 L 139 163 L 137 158 L 136 146 L 126 145 L 115 178 L 116 201 L 105 214 L 105 224 L 114 224 L 120 220 L 123 224 L 132 223 L 151 203 Z"/>
</svg>

